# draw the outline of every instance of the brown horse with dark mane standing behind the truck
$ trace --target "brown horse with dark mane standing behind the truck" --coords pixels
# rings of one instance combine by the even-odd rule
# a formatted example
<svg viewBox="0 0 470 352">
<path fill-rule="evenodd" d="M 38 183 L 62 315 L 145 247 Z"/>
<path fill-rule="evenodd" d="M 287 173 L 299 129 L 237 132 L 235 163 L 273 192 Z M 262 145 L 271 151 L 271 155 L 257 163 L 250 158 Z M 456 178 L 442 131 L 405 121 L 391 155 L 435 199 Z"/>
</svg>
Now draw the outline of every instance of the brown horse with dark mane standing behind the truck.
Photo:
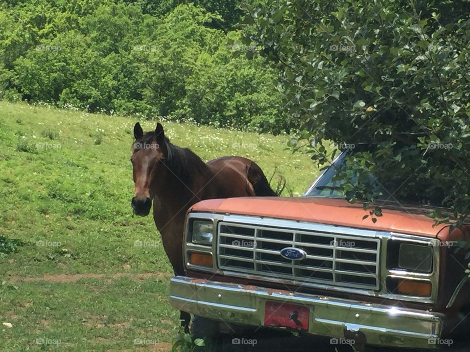
<svg viewBox="0 0 470 352">
<path fill-rule="evenodd" d="M 223 156 L 205 163 L 188 148 L 170 143 L 160 123 L 155 131 L 146 133 L 136 123 L 134 138 L 131 206 L 136 215 L 147 216 L 153 202 L 153 219 L 175 275 L 185 274 L 183 232 L 189 207 L 203 199 L 275 197 L 282 192 L 281 182 L 278 192 L 273 191 L 252 160 Z M 188 332 L 189 314 L 181 312 L 180 319 Z"/>
</svg>

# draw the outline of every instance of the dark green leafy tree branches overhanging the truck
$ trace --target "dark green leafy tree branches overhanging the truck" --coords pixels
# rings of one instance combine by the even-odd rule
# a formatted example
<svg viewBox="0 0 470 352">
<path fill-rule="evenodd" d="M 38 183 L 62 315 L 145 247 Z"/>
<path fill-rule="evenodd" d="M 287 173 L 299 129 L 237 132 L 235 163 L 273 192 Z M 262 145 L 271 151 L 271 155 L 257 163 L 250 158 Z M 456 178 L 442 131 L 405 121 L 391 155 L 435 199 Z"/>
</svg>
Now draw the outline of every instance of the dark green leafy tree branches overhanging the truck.
<svg viewBox="0 0 470 352">
<path fill-rule="evenodd" d="M 470 28 L 465 1 L 245 2 L 245 44 L 280 68 L 278 87 L 312 159 L 355 150 L 340 171 L 350 201 L 437 204 L 470 214 Z M 314 139 L 312 139 L 314 137 Z M 380 186 L 380 187 L 379 187 Z M 378 213 L 376 213 L 378 211 Z M 371 215 L 380 214 L 374 210 Z"/>
</svg>

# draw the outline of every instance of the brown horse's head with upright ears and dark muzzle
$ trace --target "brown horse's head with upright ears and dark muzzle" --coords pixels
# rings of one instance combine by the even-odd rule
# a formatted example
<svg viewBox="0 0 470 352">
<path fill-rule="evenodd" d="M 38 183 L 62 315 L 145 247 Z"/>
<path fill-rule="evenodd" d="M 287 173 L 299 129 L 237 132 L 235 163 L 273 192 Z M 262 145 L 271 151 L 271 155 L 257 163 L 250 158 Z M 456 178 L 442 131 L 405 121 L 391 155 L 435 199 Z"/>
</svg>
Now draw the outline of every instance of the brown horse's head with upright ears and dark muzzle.
<svg viewBox="0 0 470 352">
<path fill-rule="evenodd" d="M 131 162 L 133 165 L 133 178 L 135 194 L 131 205 L 134 213 L 147 216 L 152 207 L 152 198 L 156 193 L 156 177 L 164 176 L 166 171 L 163 163 L 167 156 L 165 134 L 160 123 L 155 131 L 143 133 L 141 125 L 134 126 L 135 142 Z"/>
</svg>

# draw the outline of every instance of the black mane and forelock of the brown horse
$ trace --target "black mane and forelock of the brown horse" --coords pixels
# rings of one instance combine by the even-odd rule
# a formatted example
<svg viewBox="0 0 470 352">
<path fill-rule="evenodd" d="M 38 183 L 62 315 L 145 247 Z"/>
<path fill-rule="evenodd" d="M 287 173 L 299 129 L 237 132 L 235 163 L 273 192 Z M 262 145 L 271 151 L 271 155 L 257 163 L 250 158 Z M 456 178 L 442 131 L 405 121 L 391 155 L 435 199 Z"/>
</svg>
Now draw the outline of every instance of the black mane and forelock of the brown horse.
<svg viewBox="0 0 470 352">
<path fill-rule="evenodd" d="M 155 132 L 147 132 L 140 139 L 141 143 L 150 144 L 156 140 Z M 202 159 L 188 148 L 178 147 L 165 137 L 167 156 L 164 164 L 184 184 L 190 186 L 195 176 L 206 176 L 209 168 Z"/>
</svg>

